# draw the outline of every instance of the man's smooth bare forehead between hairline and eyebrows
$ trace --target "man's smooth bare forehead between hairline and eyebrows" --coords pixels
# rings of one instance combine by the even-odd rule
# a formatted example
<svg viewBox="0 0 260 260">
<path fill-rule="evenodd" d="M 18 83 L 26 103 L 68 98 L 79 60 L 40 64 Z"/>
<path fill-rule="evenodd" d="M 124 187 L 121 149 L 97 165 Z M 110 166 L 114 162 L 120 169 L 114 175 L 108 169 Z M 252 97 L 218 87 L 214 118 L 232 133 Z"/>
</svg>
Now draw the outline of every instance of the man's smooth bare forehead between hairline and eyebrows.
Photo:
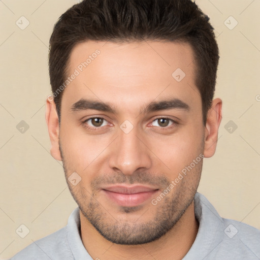
<svg viewBox="0 0 260 260">
<path fill-rule="evenodd" d="M 77 77 L 64 90 L 64 99 L 92 98 L 103 102 L 147 103 L 158 97 L 200 103 L 194 83 L 194 56 L 186 43 L 87 41 L 70 55 L 68 76 Z M 63 98 L 62 98 L 63 99 Z"/>
</svg>

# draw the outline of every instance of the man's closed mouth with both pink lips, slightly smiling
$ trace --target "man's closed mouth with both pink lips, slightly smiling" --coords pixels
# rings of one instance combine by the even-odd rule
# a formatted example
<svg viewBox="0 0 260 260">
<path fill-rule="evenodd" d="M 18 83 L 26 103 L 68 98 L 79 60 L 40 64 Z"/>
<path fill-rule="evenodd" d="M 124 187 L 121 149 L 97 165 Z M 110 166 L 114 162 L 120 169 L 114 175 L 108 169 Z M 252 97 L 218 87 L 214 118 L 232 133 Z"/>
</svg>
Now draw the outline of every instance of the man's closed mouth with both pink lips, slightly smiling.
<svg viewBox="0 0 260 260">
<path fill-rule="evenodd" d="M 135 207 L 150 199 L 159 189 L 142 185 L 114 185 L 102 188 L 106 197 L 123 207 Z"/>
</svg>

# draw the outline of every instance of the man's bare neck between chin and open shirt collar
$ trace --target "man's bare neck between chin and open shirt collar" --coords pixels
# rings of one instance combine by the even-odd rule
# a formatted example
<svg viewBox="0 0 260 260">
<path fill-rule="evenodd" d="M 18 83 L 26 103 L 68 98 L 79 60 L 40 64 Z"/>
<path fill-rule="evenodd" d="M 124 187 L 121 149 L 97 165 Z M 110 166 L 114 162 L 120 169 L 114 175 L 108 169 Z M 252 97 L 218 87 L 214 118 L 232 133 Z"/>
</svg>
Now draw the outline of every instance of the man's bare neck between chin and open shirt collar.
<svg viewBox="0 0 260 260">
<path fill-rule="evenodd" d="M 194 215 L 194 201 L 185 213 L 164 236 L 141 245 L 118 245 L 106 240 L 87 221 L 80 211 L 81 238 L 93 259 L 96 260 L 179 260 L 189 251 L 196 239 L 199 223 Z"/>
</svg>

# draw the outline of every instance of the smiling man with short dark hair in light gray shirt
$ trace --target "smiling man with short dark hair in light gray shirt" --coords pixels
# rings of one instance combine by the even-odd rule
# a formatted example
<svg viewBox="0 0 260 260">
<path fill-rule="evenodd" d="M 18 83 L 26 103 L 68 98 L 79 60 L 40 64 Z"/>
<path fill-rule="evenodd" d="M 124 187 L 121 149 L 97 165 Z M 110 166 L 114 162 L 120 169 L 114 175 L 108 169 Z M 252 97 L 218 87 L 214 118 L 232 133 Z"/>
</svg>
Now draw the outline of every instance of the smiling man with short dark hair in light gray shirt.
<svg viewBox="0 0 260 260">
<path fill-rule="evenodd" d="M 12 259 L 260 259 L 197 192 L 215 153 L 218 47 L 189 0 L 85 0 L 50 39 L 51 154 L 79 205 Z"/>
</svg>

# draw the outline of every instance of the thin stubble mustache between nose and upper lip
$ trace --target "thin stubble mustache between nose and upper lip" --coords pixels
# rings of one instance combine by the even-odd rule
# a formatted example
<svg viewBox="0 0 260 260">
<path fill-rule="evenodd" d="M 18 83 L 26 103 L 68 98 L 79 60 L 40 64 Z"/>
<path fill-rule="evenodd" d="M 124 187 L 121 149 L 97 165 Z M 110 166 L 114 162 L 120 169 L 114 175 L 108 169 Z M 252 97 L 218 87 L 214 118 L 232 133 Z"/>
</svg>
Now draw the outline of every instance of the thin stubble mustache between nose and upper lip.
<svg viewBox="0 0 260 260">
<path fill-rule="evenodd" d="M 125 175 L 122 172 L 117 174 L 106 174 L 98 176 L 91 181 L 92 190 L 99 189 L 101 185 L 109 184 L 148 184 L 158 188 L 165 188 L 171 183 L 170 180 L 158 174 L 151 174 L 147 172 L 137 172 L 132 175 Z"/>
</svg>

